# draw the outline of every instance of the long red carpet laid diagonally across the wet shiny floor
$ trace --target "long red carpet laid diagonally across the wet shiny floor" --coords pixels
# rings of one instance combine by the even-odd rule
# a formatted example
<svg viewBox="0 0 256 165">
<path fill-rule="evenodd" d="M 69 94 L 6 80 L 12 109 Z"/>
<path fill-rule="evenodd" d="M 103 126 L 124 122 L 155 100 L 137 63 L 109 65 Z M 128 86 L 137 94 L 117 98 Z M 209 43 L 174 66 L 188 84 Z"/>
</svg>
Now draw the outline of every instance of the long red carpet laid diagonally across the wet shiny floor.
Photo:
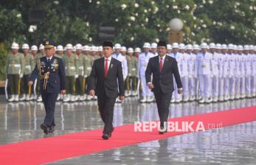
<svg viewBox="0 0 256 165">
<path fill-rule="evenodd" d="M 256 107 L 224 110 L 214 113 L 203 113 L 194 116 L 184 116 L 170 121 L 204 122 L 229 126 L 256 120 Z M 194 129 L 195 126 L 193 127 Z M 206 129 L 208 129 L 206 127 Z M 187 133 L 189 133 L 188 131 Z M 134 124 L 115 127 L 110 140 L 101 139 L 102 130 L 90 130 L 80 133 L 69 133 L 63 136 L 40 138 L 0 146 L 0 164 L 44 164 L 59 161 L 78 155 L 111 150 L 143 141 L 153 141 L 170 136 L 177 136 L 184 132 L 170 132 L 159 135 L 153 132 L 134 132 Z"/>
</svg>

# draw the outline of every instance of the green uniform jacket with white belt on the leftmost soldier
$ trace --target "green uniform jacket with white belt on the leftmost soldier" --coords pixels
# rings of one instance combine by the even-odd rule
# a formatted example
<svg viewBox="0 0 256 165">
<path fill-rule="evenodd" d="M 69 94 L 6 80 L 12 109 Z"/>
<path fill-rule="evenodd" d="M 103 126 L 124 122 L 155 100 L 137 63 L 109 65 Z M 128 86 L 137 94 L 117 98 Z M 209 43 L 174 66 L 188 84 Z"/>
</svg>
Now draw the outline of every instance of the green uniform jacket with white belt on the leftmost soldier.
<svg viewBox="0 0 256 165">
<path fill-rule="evenodd" d="M 24 60 L 23 55 L 20 53 L 16 53 L 15 55 L 8 55 L 7 56 L 7 67 L 6 73 L 7 74 L 23 74 L 24 72 Z"/>
</svg>

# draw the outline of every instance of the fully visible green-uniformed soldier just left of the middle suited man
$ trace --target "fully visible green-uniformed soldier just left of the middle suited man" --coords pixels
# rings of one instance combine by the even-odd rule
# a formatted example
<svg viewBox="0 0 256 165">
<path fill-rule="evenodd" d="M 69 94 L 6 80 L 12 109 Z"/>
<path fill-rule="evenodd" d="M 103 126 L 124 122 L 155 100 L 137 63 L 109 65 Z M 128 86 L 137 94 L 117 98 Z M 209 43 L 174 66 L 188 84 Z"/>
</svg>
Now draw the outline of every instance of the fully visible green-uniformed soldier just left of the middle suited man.
<svg viewBox="0 0 256 165">
<path fill-rule="evenodd" d="M 87 45 L 83 46 L 82 53 L 84 56 L 84 66 L 83 66 L 83 69 L 84 69 L 83 77 L 85 78 L 84 85 L 85 85 L 85 91 L 87 91 L 87 82 L 88 82 L 88 77 L 91 74 L 91 60 L 92 60 L 92 56 L 89 55 L 90 47 Z M 87 95 L 85 92 L 85 94 L 83 95 L 83 99 L 91 100 L 91 96 Z"/>
</svg>

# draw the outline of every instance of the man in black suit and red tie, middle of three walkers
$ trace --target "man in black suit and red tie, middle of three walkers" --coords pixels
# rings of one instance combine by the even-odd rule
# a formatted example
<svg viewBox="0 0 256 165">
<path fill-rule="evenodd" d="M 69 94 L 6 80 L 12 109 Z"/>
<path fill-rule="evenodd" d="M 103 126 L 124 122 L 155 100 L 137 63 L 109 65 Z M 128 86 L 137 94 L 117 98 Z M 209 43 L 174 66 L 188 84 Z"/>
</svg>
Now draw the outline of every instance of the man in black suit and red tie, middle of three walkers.
<svg viewBox="0 0 256 165">
<path fill-rule="evenodd" d="M 103 53 L 104 57 L 94 60 L 89 76 L 89 94 L 97 96 L 100 116 L 105 124 L 102 138 L 107 140 L 111 137 L 111 133 L 114 130 L 112 124 L 114 103 L 117 96 L 119 96 L 121 101 L 125 99 L 125 89 L 122 63 L 111 57 L 113 43 L 105 41 L 103 43 Z"/>
</svg>

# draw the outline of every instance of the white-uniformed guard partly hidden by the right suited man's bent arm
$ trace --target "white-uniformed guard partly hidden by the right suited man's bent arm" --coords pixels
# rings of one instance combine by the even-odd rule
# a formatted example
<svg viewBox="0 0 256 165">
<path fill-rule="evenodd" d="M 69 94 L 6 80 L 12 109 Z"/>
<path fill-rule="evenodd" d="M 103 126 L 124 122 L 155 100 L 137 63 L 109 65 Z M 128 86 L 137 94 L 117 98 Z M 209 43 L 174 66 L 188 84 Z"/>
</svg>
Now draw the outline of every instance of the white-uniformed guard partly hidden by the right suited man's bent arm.
<svg viewBox="0 0 256 165">
<path fill-rule="evenodd" d="M 143 52 L 139 55 L 139 62 L 138 62 L 138 75 L 139 80 L 142 84 L 142 99 L 140 102 L 153 102 L 153 92 L 148 88 L 146 78 L 145 78 L 145 71 L 148 66 L 148 60 L 153 57 L 151 52 L 150 43 L 144 43 L 143 45 Z"/>
</svg>

